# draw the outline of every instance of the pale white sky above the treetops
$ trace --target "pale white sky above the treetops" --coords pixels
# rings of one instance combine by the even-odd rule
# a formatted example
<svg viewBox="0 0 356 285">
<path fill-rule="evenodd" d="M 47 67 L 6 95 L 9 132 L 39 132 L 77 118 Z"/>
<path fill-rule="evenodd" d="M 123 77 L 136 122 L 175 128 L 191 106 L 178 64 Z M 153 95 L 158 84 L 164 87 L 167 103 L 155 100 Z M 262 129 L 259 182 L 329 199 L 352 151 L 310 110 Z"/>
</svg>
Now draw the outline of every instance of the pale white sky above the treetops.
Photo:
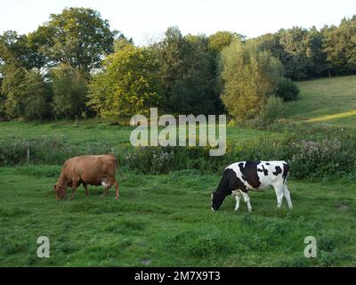
<svg viewBox="0 0 356 285">
<path fill-rule="evenodd" d="M 50 13 L 72 6 L 98 10 L 111 28 L 139 45 L 161 37 L 169 26 L 178 26 L 184 35 L 230 30 L 256 37 L 279 28 L 338 24 L 356 13 L 355 0 L 0 0 L 0 33 L 28 33 Z"/>
</svg>

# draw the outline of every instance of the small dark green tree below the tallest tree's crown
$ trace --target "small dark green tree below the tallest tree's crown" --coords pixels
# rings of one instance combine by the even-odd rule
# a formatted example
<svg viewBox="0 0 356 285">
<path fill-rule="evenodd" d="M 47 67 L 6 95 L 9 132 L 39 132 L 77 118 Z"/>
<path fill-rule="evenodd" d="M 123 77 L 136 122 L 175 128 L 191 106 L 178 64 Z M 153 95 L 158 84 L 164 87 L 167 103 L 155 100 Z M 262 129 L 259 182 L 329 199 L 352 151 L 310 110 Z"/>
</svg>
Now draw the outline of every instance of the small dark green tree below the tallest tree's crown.
<svg viewBox="0 0 356 285">
<path fill-rule="evenodd" d="M 61 65 L 51 71 L 53 113 L 60 118 L 77 118 L 85 111 L 87 80 L 78 69 Z"/>
</svg>

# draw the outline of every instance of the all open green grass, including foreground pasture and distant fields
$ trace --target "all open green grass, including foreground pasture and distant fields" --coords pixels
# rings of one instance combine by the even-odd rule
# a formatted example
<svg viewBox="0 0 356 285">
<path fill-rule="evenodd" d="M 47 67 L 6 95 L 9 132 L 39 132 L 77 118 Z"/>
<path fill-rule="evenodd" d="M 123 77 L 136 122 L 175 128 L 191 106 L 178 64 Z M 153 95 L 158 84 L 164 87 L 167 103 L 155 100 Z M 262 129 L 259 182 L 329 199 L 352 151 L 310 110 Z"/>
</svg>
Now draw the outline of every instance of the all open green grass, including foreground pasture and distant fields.
<svg viewBox="0 0 356 285">
<path fill-rule="evenodd" d="M 299 83 L 301 98 L 286 104 L 287 119 L 352 130 L 354 116 L 340 114 L 354 111 L 355 80 L 339 77 Z M 129 142 L 132 130 L 98 120 L 3 122 L 0 141 L 61 137 L 73 148 L 96 145 L 102 150 L 108 144 L 118 150 Z M 227 135 L 236 143 L 268 143 L 287 134 L 227 126 Z M 117 175 L 119 200 L 112 190 L 100 199 L 101 187 L 89 187 L 90 198 L 85 199 L 81 186 L 74 200 L 56 201 L 52 187 L 61 172 L 59 163 L 4 163 L 0 167 L 0 266 L 356 265 L 354 173 L 337 179 L 292 176 L 288 181 L 292 211 L 286 201 L 278 210 L 274 191 L 267 190 L 251 193 L 253 212 L 248 214 L 243 202 L 235 213 L 231 197 L 221 210 L 211 211 L 210 192 L 220 181 L 219 171 L 181 169 L 144 175 L 125 164 L 122 168 L 125 179 Z M 36 256 L 39 236 L 50 239 L 50 258 Z M 317 258 L 303 256 L 307 236 L 317 239 Z"/>
</svg>

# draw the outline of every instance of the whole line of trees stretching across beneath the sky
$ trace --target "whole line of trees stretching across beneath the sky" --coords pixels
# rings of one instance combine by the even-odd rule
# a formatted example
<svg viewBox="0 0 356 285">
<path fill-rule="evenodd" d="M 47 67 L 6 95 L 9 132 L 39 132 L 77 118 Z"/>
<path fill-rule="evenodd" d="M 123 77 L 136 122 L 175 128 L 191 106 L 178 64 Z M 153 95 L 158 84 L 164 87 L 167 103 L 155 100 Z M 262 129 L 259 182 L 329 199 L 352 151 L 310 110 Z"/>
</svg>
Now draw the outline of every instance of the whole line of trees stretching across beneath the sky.
<svg viewBox="0 0 356 285">
<path fill-rule="evenodd" d="M 158 42 L 137 46 L 100 12 L 66 8 L 28 35 L 0 36 L 0 118 L 127 119 L 153 106 L 263 117 L 276 98 L 296 98 L 290 79 L 355 73 L 354 35 L 356 16 L 252 39 L 228 31 L 183 36 L 170 27 Z"/>
</svg>

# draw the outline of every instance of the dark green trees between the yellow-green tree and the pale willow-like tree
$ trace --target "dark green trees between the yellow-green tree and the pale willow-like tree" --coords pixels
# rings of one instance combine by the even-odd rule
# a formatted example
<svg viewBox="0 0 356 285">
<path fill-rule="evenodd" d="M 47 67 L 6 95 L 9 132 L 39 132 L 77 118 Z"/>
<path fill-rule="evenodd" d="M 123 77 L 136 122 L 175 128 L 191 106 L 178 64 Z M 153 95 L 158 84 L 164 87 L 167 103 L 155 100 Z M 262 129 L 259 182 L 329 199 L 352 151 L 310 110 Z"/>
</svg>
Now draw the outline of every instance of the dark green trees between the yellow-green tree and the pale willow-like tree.
<svg viewBox="0 0 356 285">
<path fill-rule="evenodd" d="M 171 27 L 166 37 L 151 48 L 158 54 L 166 110 L 198 115 L 219 109 L 215 53 L 209 49 L 207 37 L 182 37 L 179 28 Z"/>
</svg>

